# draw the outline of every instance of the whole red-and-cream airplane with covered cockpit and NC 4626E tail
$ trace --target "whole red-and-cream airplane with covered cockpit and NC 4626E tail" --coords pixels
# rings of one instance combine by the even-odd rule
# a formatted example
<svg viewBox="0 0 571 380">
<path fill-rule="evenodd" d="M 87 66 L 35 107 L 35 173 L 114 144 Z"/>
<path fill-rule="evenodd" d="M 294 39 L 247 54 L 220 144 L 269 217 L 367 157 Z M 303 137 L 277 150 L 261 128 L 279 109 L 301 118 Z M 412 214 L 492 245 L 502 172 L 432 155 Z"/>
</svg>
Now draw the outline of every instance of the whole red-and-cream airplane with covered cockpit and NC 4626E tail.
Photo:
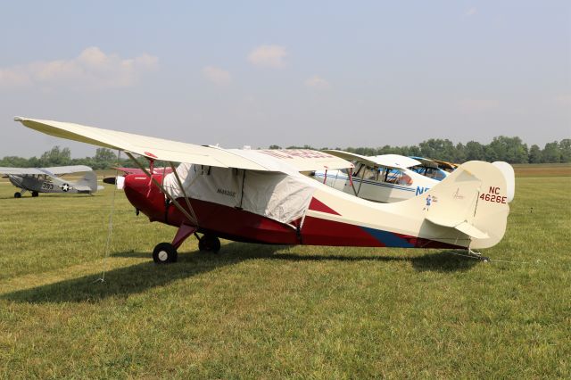
<svg viewBox="0 0 571 380">
<path fill-rule="evenodd" d="M 179 143 L 78 124 L 15 118 L 51 136 L 118 149 L 155 160 L 182 162 L 167 176 L 128 175 L 124 190 L 151 221 L 178 231 L 157 244 L 153 260 L 177 260 L 190 235 L 203 233 L 202 251 L 217 252 L 219 237 L 262 244 L 362 247 L 492 247 L 509 214 L 506 179 L 494 165 L 469 161 L 425 194 L 377 203 L 345 194 L 302 171 L 351 168 L 328 153 L 253 151 Z M 198 236 L 198 235 L 196 235 Z"/>
</svg>

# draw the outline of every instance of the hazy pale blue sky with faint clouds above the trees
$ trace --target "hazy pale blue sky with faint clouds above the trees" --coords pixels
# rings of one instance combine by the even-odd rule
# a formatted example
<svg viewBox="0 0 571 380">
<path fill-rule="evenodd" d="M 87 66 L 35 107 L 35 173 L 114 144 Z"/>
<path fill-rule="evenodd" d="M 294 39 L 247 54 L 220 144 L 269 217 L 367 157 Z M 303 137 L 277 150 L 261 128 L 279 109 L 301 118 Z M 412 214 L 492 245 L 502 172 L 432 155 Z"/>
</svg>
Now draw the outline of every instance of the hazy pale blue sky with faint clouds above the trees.
<svg viewBox="0 0 571 380">
<path fill-rule="evenodd" d="M 571 137 L 571 2 L 5 1 L 0 157 L 95 147 L 20 115 L 194 144 Z"/>
</svg>

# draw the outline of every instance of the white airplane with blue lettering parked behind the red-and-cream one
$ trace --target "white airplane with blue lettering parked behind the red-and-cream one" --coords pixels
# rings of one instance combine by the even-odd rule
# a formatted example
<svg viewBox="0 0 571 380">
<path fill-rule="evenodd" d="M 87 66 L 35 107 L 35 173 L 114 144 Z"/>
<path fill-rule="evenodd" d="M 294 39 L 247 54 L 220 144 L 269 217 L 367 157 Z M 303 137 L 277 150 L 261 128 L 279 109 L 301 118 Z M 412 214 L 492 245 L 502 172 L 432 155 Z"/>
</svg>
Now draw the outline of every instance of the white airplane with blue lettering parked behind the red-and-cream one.
<svg viewBox="0 0 571 380">
<path fill-rule="evenodd" d="M 420 165 L 419 161 L 399 154 L 362 156 L 336 150 L 323 152 L 352 161 L 355 169 L 352 172 L 347 169 L 316 170 L 311 177 L 368 201 L 400 202 L 423 194 L 438 183 L 433 178 L 427 178 L 409 169 Z"/>
</svg>

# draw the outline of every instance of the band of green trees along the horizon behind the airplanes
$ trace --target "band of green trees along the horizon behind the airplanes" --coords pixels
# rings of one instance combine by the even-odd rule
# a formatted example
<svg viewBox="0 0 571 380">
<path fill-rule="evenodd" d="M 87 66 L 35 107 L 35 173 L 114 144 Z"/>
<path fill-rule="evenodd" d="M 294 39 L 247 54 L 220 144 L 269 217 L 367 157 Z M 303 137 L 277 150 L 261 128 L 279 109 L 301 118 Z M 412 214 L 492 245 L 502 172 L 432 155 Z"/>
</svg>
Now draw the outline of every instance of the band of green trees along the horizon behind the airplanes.
<svg viewBox="0 0 571 380">
<path fill-rule="evenodd" d="M 287 148 L 315 149 L 309 145 L 288 146 Z M 269 149 L 281 149 L 281 147 L 270 145 Z M 507 161 L 509 163 L 571 162 L 571 138 L 547 143 L 543 148 L 540 148 L 538 145 L 531 145 L 528 148 L 519 137 L 497 136 L 487 145 L 476 141 L 470 141 L 466 145 L 462 143 L 454 145 L 449 139 L 431 138 L 418 145 L 385 145 L 377 148 L 348 147 L 335 149 L 366 156 L 393 153 L 458 163 L 471 160 Z M 144 158 L 140 160 L 147 166 Z M 4 167 L 46 168 L 64 165 L 87 165 L 93 169 L 110 169 L 113 166 L 133 167 L 135 164 L 128 158 L 118 159 L 117 154 L 107 148 L 97 148 L 94 157 L 71 158 L 70 148 L 61 148 L 60 146 L 54 146 L 39 158 L 31 157 L 26 159 L 17 156 L 6 156 L 0 160 L 0 166 Z M 161 166 L 162 163 L 157 162 L 156 165 Z"/>
</svg>

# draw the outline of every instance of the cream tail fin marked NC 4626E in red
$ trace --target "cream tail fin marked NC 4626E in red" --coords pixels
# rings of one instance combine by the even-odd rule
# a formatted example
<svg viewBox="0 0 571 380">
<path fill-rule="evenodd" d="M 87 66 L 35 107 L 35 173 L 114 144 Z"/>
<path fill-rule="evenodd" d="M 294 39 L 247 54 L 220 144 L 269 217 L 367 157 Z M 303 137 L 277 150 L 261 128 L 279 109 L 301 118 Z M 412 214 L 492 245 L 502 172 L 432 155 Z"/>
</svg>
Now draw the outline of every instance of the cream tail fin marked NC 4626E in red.
<svg viewBox="0 0 571 380">
<path fill-rule="evenodd" d="M 404 202 L 425 212 L 428 225 L 458 231 L 471 248 L 488 248 L 498 244 L 506 231 L 508 191 L 501 169 L 489 162 L 468 161 L 427 193 Z"/>
</svg>

